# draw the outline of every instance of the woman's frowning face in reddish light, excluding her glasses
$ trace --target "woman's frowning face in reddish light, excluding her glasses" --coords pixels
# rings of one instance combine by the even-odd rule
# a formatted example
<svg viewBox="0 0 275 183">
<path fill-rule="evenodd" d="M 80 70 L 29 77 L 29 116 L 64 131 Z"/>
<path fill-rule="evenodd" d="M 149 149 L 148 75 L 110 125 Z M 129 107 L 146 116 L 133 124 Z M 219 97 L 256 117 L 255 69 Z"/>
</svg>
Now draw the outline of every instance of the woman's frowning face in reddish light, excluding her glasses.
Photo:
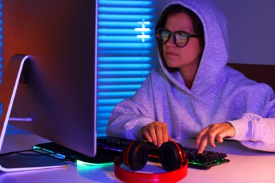
<svg viewBox="0 0 275 183">
<path fill-rule="evenodd" d="M 195 34 L 192 19 L 186 13 L 171 13 L 166 19 L 164 28 L 170 32 L 183 30 Z M 170 68 L 179 68 L 181 72 L 196 72 L 200 63 L 201 49 L 197 37 L 190 37 L 186 46 L 180 48 L 173 43 L 173 37 L 163 44 L 163 52 L 166 64 Z"/>
</svg>

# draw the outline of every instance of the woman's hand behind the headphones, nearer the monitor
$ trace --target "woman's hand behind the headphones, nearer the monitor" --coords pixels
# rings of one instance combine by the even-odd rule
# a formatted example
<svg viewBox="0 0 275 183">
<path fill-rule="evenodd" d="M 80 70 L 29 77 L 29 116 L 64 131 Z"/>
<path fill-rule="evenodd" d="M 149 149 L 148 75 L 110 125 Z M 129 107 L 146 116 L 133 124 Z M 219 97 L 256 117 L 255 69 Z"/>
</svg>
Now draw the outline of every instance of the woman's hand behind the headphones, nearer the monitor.
<svg viewBox="0 0 275 183">
<path fill-rule="evenodd" d="M 165 122 L 152 122 L 142 127 L 143 139 L 153 142 L 155 146 L 161 146 L 166 141 L 173 141 L 169 137 L 168 127 Z"/>
</svg>

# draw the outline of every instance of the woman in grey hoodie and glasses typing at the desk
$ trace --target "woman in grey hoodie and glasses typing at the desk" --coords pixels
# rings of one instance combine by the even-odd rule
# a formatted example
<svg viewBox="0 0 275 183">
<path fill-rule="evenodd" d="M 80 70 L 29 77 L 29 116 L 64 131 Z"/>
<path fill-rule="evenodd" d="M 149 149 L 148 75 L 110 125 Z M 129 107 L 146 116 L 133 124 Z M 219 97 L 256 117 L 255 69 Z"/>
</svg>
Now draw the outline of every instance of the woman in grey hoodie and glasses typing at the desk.
<svg viewBox="0 0 275 183">
<path fill-rule="evenodd" d="M 114 108 L 106 134 L 160 146 L 196 138 L 199 153 L 224 138 L 275 151 L 274 91 L 226 66 L 226 19 L 209 0 L 173 1 L 156 27 L 161 68 Z"/>
</svg>

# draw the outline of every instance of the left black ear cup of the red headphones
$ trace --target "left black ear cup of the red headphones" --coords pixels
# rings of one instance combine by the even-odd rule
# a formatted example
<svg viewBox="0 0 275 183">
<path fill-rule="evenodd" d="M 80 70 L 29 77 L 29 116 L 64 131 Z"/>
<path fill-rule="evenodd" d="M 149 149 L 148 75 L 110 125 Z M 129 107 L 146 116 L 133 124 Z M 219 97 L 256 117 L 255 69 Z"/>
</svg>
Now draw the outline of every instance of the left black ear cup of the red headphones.
<svg viewBox="0 0 275 183">
<path fill-rule="evenodd" d="M 141 170 L 147 163 L 148 146 L 143 141 L 132 141 L 123 152 L 123 163 L 134 171 Z"/>
</svg>

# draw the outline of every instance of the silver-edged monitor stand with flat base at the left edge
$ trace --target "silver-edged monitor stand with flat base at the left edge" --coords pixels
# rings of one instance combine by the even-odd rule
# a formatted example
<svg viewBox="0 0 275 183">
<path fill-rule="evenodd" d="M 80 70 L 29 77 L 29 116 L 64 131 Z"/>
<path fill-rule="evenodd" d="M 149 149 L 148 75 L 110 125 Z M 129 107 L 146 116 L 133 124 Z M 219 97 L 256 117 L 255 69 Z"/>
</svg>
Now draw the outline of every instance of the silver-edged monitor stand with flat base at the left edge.
<svg viewBox="0 0 275 183">
<path fill-rule="evenodd" d="M 27 58 L 28 56 L 26 55 L 13 56 L 8 62 L 0 85 L 0 106 L 3 110 L 2 115 L 0 114 L 0 152 L 11 114 L 11 108 L 16 96 L 20 74 Z M 67 162 L 51 156 L 26 156 L 20 154 L 0 156 L 0 171 L 3 172 L 61 168 L 66 166 L 68 166 Z"/>
</svg>

